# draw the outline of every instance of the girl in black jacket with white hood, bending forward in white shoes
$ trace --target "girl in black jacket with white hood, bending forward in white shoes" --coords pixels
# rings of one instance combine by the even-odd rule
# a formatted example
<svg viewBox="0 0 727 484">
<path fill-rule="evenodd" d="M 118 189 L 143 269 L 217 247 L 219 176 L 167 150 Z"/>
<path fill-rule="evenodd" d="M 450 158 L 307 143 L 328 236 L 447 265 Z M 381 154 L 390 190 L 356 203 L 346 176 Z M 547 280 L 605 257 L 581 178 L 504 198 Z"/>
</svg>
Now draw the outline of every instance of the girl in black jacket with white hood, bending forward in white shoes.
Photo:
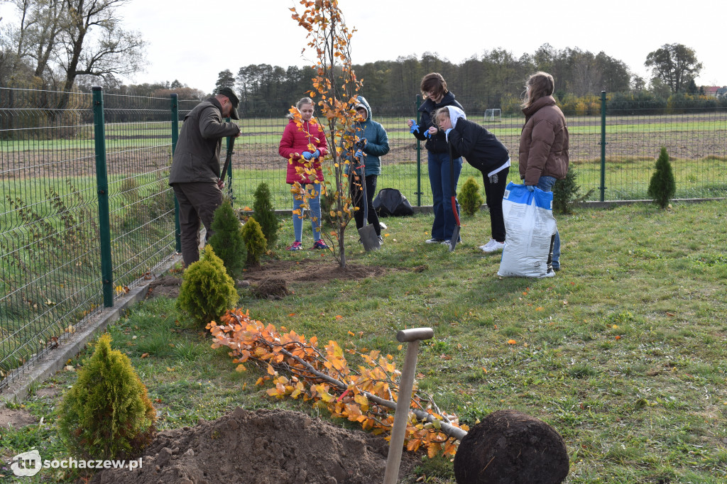
<svg viewBox="0 0 727 484">
<path fill-rule="evenodd" d="M 480 249 L 488 253 L 502 251 L 505 248 L 502 196 L 505 195 L 507 174 L 510 172 L 510 152 L 494 134 L 467 120 L 465 112 L 456 106 L 436 110 L 435 123 L 444 132 L 452 149 L 482 172 L 492 238 Z"/>
</svg>

